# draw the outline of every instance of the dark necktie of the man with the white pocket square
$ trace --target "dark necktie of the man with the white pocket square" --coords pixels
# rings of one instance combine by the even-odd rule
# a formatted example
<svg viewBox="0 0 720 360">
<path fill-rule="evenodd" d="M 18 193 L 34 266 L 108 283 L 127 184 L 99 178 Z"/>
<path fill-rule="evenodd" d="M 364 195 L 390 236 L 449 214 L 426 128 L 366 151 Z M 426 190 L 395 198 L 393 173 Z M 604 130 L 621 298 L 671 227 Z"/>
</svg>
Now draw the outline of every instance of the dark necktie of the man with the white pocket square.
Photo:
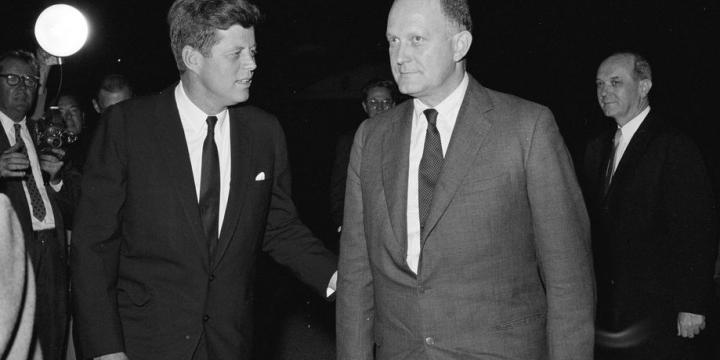
<svg viewBox="0 0 720 360">
<path fill-rule="evenodd" d="M 218 221 L 220 213 L 220 160 L 215 144 L 217 117 L 208 116 L 208 132 L 203 142 L 203 158 L 200 175 L 200 217 L 208 241 L 210 257 L 215 253 L 218 242 Z"/>
</svg>

